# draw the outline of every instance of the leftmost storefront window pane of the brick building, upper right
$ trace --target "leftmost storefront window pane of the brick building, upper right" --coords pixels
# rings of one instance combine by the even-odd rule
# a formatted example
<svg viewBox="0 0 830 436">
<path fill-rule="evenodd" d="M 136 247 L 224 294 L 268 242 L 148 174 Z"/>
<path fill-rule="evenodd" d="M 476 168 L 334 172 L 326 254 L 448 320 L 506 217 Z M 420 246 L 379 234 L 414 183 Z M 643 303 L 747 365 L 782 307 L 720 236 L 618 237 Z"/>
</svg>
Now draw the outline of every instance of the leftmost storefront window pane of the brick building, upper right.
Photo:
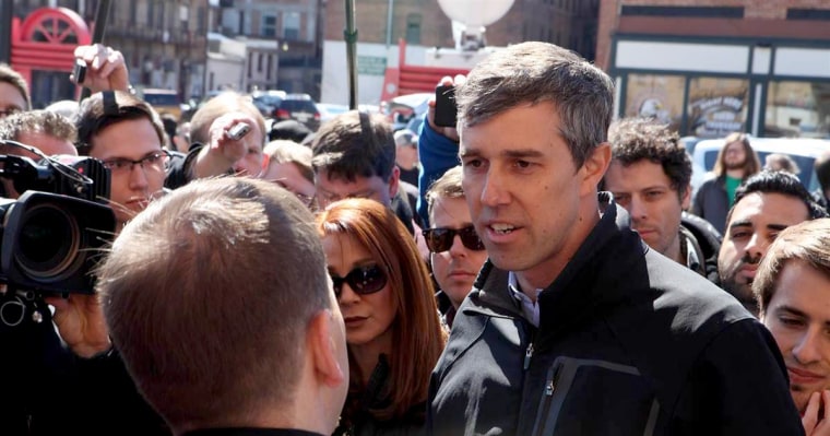
<svg viewBox="0 0 830 436">
<path fill-rule="evenodd" d="M 650 117 L 679 130 L 683 118 L 683 75 L 629 74 L 626 117 Z"/>
</svg>

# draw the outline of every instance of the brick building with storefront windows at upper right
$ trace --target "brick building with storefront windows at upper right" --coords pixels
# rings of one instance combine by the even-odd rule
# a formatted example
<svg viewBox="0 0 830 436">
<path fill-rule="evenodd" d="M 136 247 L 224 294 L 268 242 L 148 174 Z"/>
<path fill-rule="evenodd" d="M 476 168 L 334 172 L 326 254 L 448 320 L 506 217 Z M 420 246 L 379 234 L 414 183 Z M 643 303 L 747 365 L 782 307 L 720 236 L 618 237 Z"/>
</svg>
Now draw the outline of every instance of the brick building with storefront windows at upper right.
<svg viewBox="0 0 830 436">
<path fill-rule="evenodd" d="M 602 0 L 597 39 L 621 116 L 704 138 L 830 138 L 826 0 Z"/>
</svg>

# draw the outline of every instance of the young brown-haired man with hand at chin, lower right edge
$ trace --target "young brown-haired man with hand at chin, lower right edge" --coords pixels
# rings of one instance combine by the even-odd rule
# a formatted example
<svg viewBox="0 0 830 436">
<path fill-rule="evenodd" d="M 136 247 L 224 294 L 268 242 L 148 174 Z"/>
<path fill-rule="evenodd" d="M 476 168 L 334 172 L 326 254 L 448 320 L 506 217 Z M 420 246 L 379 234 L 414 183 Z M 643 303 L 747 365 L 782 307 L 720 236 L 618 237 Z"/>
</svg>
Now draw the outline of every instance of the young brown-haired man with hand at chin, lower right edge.
<svg viewBox="0 0 830 436">
<path fill-rule="evenodd" d="M 752 292 L 784 355 L 804 429 L 830 434 L 830 220 L 782 231 L 758 267 Z"/>
</svg>

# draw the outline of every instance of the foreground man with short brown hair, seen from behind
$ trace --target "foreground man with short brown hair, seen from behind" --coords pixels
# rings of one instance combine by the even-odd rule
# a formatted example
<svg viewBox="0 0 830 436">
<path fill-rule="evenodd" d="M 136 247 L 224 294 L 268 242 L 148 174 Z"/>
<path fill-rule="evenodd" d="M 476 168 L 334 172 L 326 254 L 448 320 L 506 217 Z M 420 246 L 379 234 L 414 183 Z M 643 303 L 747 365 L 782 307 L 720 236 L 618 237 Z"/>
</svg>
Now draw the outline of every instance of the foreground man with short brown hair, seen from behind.
<svg viewBox="0 0 830 436">
<path fill-rule="evenodd" d="M 151 205 L 114 244 L 97 286 L 107 325 L 175 434 L 334 431 L 345 327 L 312 223 L 274 184 L 214 178 Z"/>
</svg>

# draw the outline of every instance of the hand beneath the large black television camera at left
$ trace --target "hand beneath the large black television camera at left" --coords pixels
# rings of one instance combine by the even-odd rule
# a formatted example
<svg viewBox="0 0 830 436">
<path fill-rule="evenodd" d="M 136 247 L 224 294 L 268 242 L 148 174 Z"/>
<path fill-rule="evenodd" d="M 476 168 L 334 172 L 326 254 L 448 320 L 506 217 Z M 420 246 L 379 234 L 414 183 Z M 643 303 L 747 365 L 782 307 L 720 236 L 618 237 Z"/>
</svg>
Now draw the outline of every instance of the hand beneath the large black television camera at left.
<svg viewBox="0 0 830 436">
<path fill-rule="evenodd" d="M 73 353 L 92 357 L 111 347 L 104 309 L 97 295 L 69 294 L 44 298 L 55 306 L 52 320 Z"/>
</svg>

